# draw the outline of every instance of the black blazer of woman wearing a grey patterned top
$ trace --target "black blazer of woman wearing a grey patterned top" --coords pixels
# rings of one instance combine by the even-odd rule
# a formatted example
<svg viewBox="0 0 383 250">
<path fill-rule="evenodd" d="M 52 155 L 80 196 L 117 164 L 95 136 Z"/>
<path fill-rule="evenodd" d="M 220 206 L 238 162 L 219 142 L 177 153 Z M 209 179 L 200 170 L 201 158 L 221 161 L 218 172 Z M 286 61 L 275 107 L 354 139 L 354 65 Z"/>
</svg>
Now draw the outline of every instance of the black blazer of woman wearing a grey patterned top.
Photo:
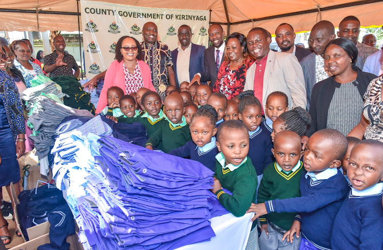
<svg viewBox="0 0 383 250">
<path fill-rule="evenodd" d="M 336 82 L 334 78 L 335 77 L 330 77 L 320 81 L 313 87 L 310 110 L 308 111 L 312 118 L 310 127 L 306 131 L 306 136 L 308 137 L 319 130 L 326 129 L 328 108 L 330 107 L 332 96 L 334 95 L 335 88 L 341 86 L 341 84 Z M 354 84 L 357 86 L 362 98 L 371 80 L 375 78 L 377 78 L 375 74 L 363 72 L 359 69 L 357 70 L 356 81 Z"/>
</svg>

